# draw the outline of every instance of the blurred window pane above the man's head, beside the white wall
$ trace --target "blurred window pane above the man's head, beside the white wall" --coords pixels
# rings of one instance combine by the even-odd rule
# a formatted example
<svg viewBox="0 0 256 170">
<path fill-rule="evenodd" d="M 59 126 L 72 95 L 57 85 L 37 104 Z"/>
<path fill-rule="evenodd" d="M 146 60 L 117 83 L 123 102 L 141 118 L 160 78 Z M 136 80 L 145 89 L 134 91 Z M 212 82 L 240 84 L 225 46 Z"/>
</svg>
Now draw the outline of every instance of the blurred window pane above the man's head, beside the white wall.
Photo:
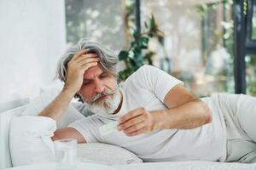
<svg viewBox="0 0 256 170">
<path fill-rule="evenodd" d="M 87 37 L 115 51 L 123 48 L 122 1 L 66 0 L 67 43 Z"/>
</svg>

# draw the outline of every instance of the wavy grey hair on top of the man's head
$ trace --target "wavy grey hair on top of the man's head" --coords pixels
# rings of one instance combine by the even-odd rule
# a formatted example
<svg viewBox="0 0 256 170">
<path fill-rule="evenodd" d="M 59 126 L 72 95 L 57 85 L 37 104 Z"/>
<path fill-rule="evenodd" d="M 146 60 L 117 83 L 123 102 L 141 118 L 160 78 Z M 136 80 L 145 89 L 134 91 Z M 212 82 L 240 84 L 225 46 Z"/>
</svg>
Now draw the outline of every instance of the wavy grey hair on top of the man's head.
<svg viewBox="0 0 256 170">
<path fill-rule="evenodd" d="M 102 69 L 112 74 L 114 77 L 118 77 L 118 56 L 110 49 L 104 48 L 102 44 L 98 42 L 90 42 L 88 39 L 82 39 L 73 47 L 68 48 L 67 52 L 61 56 L 57 65 L 55 78 L 60 79 L 61 82 L 66 82 L 67 63 L 73 58 L 74 54 L 78 53 L 82 49 L 87 49 L 87 53 L 97 54 L 100 59 L 99 63 L 102 66 Z"/>
</svg>

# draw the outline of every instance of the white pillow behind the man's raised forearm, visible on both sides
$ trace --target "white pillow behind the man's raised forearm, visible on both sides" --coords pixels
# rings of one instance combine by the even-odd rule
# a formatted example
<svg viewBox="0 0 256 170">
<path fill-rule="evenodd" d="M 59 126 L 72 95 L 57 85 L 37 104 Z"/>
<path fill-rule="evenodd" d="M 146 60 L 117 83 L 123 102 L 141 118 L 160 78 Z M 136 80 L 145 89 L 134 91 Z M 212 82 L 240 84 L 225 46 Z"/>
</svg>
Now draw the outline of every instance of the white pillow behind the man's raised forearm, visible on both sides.
<svg viewBox="0 0 256 170">
<path fill-rule="evenodd" d="M 42 92 L 38 97 L 32 99 L 26 110 L 21 113 L 21 116 L 38 116 L 49 103 L 55 99 L 60 93 L 58 88 L 50 88 Z M 68 105 L 67 110 L 63 113 L 60 120 L 57 122 L 57 129 L 67 127 L 68 124 L 84 118 L 84 116 L 72 104 Z"/>
</svg>

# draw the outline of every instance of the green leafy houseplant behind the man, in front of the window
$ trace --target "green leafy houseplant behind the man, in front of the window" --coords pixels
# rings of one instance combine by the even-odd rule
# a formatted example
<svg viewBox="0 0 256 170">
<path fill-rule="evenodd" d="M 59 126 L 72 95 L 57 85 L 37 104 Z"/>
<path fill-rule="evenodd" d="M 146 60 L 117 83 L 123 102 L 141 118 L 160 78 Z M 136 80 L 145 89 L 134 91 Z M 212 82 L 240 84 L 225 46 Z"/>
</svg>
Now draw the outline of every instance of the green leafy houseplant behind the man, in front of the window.
<svg viewBox="0 0 256 170">
<path fill-rule="evenodd" d="M 144 64 L 153 65 L 152 56 L 154 51 L 148 49 L 148 41 L 150 38 L 157 38 L 161 45 L 164 45 L 164 34 L 159 30 L 151 14 L 149 21 L 143 24 L 143 31 L 131 29 L 131 42 L 127 50 L 119 52 L 119 60 L 125 62 L 125 70 L 119 71 L 119 78 L 125 80 L 134 71 L 137 71 Z"/>
</svg>

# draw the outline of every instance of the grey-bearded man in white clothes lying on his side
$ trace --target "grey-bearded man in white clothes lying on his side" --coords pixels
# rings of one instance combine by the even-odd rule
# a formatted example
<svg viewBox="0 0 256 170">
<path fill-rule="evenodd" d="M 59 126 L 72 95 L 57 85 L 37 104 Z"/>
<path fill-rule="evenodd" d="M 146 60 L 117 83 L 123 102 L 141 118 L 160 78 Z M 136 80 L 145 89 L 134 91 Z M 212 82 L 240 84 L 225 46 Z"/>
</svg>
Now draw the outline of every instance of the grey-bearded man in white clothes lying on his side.
<svg viewBox="0 0 256 170">
<path fill-rule="evenodd" d="M 62 56 L 57 77 L 65 85 L 40 116 L 57 122 L 74 96 L 95 115 L 56 130 L 53 140 L 116 144 L 143 161 L 255 161 L 253 97 L 197 99 L 183 82 L 149 65 L 118 83 L 117 62 L 102 45 L 83 40 Z M 99 128 L 110 122 L 119 131 L 102 135 Z"/>
</svg>

